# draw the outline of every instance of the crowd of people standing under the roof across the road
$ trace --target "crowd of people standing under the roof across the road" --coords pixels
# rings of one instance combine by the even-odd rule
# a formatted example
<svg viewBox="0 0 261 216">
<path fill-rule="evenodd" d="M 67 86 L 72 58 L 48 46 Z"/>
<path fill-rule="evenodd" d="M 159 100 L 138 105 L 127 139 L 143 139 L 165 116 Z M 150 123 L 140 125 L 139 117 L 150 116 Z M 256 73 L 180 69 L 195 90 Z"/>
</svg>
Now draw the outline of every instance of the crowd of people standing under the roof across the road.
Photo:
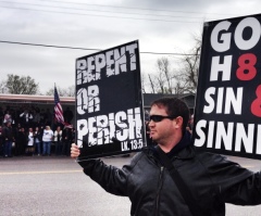
<svg viewBox="0 0 261 216">
<path fill-rule="evenodd" d="M 0 107 L 0 156 L 70 156 L 75 139 L 73 112 L 64 111 L 66 126 L 57 123 L 49 109 L 38 106 Z"/>
</svg>

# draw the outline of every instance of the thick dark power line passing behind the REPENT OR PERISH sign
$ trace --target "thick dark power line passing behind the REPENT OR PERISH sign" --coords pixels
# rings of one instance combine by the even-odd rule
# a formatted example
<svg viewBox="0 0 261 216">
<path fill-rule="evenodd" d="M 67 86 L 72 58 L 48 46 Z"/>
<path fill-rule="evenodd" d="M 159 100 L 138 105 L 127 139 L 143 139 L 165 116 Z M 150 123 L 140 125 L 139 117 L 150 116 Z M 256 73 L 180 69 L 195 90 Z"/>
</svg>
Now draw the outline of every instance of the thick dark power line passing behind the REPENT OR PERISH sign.
<svg viewBox="0 0 261 216">
<path fill-rule="evenodd" d="M 40 45 L 40 43 L 30 43 L 30 42 L 16 42 L 16 41 L 7 41 L 0 40 L 2 43 L 12 43 L 12 45 L 22 45 L 22 46 L 34 46 L 34 47 L 46 47 L 46 48 L 59 48 L 59 49 L 72 49 L 72 50 L 88 50 L 88 51 L 102 51 L 101 49 L 90 49 L 90 48 L 75 48 L 75 47 L 65 47 L 65 46 L 52 46 L 52 45 Z M 185 54 L 185 53 L 173 53 L 173 52 L 139 52 L 141 54 L 163 54 L 163 55 L 183 55 L 191 56 L 197 54 Z"/>
</svg>

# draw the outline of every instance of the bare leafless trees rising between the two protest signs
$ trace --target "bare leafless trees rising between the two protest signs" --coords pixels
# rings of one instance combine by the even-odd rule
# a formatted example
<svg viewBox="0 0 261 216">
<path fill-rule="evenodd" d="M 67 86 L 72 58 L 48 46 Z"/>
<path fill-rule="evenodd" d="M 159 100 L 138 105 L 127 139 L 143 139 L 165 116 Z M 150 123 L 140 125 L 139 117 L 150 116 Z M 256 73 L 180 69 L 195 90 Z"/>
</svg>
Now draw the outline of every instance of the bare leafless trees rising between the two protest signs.
<svg viewBox="0 0 261 216">
<path fill-rule="evenodd" d="M 198 86 L 201 37 L 194 36 L 195 46 L 181 59 L 178 69 L 171 68 L 167 58 L 157 60 L 157 73 L 148 75 L 151 93 L 196 93 Z"/>
</svg>

